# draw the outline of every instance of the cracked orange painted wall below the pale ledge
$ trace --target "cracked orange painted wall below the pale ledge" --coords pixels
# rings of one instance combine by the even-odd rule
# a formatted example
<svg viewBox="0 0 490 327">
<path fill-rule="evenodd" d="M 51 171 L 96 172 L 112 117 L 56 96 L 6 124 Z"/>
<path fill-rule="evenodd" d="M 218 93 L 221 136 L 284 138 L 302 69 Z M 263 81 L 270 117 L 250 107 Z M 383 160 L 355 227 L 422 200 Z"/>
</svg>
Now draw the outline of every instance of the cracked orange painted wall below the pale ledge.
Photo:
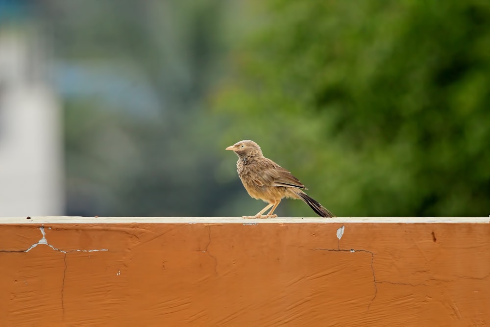
<svg viewBox="0 0 490 327">
<path fill-rule="evenodd" d="M 490 224 L 325 222 L 0 225 L 0 326 L 490 325 Z"/>
</svg>

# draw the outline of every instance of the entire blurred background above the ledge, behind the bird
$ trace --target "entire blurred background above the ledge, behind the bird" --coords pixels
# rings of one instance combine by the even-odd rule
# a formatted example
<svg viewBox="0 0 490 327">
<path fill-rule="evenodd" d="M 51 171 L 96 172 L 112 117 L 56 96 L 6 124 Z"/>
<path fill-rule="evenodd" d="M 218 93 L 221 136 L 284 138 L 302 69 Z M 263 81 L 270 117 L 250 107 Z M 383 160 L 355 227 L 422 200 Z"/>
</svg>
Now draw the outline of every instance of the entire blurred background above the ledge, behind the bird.
<svg viewBox="0 0 490 327">
<path fill-rule="evenodd" d="M 490 214 L 490 2 L 0 0 L 0 216 Z M 283 201 L 282 216 L 315 216 Z"/>
</svg>

